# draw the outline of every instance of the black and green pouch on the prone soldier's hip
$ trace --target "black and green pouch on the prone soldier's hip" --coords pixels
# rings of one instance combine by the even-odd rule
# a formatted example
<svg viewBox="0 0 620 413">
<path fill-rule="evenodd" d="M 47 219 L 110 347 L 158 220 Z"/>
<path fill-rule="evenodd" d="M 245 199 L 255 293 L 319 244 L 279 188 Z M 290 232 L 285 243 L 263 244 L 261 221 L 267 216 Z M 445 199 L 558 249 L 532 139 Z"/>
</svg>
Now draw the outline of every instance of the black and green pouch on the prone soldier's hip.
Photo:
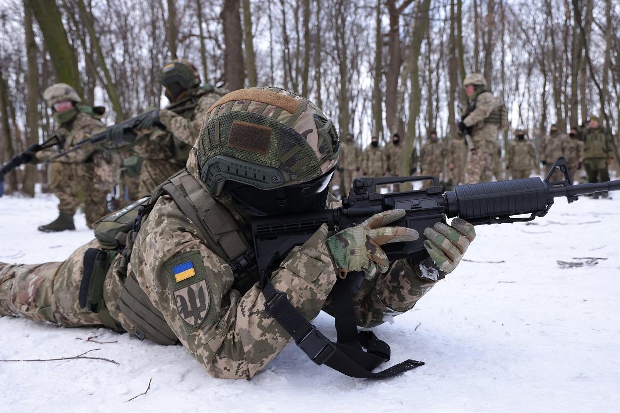
<svg viewBox="0 0 620 413">
<path fill-rule="evenodd" d="M 99 314 L 104 326 L 120 331 L 118 323 L 110 316 L 104 302 L 105 275 L 116 257 L 117 252 L 89 248 L 84 253 L 82 281 L 79 286 L 78 302 L 80 308 L 86 308 Z"/>
</svg>

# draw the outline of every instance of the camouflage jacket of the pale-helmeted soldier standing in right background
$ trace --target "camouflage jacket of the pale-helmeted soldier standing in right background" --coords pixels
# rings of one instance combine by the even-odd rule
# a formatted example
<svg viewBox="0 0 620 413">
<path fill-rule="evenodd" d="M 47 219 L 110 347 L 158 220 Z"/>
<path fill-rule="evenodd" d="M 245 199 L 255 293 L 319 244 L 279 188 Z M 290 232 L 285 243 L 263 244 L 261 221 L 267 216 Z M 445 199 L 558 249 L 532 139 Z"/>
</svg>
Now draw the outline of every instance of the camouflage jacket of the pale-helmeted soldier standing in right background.
<svg viewBox="0 0 620 413">
<path fill-rule="evenodd" d="M 488 122 L 491 113 L 500 103 L 490 92 L 482 92 L 469 102 L 461 113 L 461 118 L 467 127 L 471 127 L 471 138 L 474 143 L 479 141 L 497 140 L 499 123 Z"/>
</svg>

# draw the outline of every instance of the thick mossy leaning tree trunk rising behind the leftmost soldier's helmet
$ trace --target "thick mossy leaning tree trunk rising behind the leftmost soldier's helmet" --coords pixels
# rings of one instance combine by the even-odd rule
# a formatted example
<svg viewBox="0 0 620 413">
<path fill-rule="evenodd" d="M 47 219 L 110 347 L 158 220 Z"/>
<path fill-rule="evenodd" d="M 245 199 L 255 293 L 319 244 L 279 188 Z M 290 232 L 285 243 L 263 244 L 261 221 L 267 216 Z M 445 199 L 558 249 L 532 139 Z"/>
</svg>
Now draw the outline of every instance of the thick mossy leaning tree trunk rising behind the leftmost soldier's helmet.
<svg viewBox="0 0 620 413">
<path fill-rule="evenodd" d="M 69 44 L 56 2 L 32 0 L 30 6 L 39 29 L 43 33 L 45 48 L 50 53 L 56 82 L 69 84 L 78 92 L 78 95 L 84 95 L 79 78 L 78 58 L 76 58 L 73 46 Z"/>
</svg>

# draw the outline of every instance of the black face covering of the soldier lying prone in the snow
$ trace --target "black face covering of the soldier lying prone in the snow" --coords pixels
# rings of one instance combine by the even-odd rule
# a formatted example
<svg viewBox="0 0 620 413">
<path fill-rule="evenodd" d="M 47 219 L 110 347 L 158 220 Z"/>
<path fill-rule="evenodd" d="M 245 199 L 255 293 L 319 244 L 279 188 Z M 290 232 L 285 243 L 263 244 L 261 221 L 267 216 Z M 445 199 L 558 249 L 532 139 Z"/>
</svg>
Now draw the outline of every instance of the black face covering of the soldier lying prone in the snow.
<svg viewBox="0 0 620 413">
<path fill-rule="evenodd" d="M 250 216 L 278 215 L 324 210 L 329 193 L 329 182 L 334 171 L 303 184 L 263 190 L 250 185 L 227 182 L 237 207 Z"/>
</svg>

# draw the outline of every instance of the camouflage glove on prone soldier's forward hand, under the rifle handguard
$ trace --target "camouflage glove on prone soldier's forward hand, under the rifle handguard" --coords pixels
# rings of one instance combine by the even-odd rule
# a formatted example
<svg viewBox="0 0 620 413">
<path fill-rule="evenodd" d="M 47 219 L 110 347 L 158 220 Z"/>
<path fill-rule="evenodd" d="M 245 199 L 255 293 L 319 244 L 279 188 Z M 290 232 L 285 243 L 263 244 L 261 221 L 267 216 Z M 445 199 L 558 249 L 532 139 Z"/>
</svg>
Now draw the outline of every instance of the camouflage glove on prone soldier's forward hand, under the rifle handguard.
<svg viewBox="0 0 620 413">
<path fill-rule="evenodd" d="M 440 280 L 454 271 L 469 244 L 476 238 L 474 226 L 461 218 L 454 218 L 451 225 L 438 222 L 424 230 L 424 241 L 430 260 L 420 262 L 422 278 Z"/>
</svg>

